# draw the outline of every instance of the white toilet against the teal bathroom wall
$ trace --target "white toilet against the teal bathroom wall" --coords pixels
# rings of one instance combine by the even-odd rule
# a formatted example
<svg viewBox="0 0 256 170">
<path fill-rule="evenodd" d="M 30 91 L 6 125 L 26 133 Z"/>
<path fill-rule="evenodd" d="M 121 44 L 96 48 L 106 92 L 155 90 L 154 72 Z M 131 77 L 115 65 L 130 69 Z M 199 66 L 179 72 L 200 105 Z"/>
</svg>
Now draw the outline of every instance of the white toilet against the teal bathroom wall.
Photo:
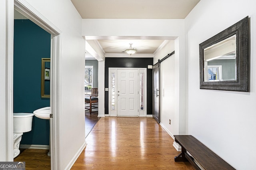
<svg viewBox="0 0 256 170">
<path fill-rule="evenodd" d="M 33 113 L 13 113 L 13 158 L 20 154 L 20 140 L 32 128 Z"/>
</svg>

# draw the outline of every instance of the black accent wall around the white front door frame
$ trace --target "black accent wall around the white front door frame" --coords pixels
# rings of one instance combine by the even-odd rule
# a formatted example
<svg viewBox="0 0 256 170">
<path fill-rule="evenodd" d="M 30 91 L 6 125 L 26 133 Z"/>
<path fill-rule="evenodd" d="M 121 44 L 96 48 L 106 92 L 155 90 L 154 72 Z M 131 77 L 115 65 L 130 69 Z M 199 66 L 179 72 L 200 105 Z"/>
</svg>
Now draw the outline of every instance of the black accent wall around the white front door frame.
<svg viewBox="0 0 256 170">
<path fill-rule="evenodd" d="M 105 87 L 108 88 L 108 68 L 148 68 L 153 58 L 105 58 Z M 108 114 L 108 91 L 105 91 L 105 114 Z M 147 69 L 147 114 L 152 114 L 152 69 Z"/>
</svg>

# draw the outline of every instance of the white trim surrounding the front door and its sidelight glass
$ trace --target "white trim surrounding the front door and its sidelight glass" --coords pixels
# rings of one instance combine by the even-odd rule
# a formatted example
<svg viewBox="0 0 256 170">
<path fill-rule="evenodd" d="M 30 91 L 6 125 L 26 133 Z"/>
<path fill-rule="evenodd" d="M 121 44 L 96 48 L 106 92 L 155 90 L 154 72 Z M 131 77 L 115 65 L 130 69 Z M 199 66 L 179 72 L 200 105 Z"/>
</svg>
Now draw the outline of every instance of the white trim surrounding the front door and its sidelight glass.
<svg viewBox="0 0 256 170">
<path fill-rule="evenodd" d="M 138 116 L 139 117 L 146 117 L 147 116 L 147 111 L 146 111 L 146 108 L 147 108 L 147 68 L 124 68 L 124 67 L 110 67 L 110 68 L 108 68 L 108 115 L 109 116 L 117 116 L 117 108 L 115 107 L 115 109 L 112 109 L 112 103 L 111 103 L 111 100 L 112 100 L 111 76 L 112 76 L 112 73 L 114 73 L 115 78 L 116 78 L 118 69 L 138 69 L 138 73 L 139 73 L 138 82 L 140 82 L 140 73 L 144 73 L 144 109 L 141 110 L 140 107 L 139 107 Z M 115 79 L 114 83 L 115 83 L 115 88 L 116 88 L 116 79 Z M 114 96 L 115 96 L 115 106 L 117 106 L 117 100 L 116 100 L 117 99 L 117 93 L 114 94 Z M 139 105 L 139 103 L 140 103 L 140 100 L 138 100 L 138 105 Z"/>
</svg>

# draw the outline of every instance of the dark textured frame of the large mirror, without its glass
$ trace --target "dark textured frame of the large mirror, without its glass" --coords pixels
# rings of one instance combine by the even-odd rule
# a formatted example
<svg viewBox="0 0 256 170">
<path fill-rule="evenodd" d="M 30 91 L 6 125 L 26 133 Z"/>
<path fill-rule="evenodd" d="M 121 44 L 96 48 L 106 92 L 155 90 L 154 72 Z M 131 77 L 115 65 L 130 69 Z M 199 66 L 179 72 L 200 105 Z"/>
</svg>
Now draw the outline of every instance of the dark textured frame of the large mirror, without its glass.
<svg viewBox="0 0 256 170">
<path fill-rule="evenodd" d="M 236 35 L 236 80 L 204 81 L 204 49 Z M 250 91 L 249 18 L 248 16 L 199 44 L 200 89 Z"/>
</svg>

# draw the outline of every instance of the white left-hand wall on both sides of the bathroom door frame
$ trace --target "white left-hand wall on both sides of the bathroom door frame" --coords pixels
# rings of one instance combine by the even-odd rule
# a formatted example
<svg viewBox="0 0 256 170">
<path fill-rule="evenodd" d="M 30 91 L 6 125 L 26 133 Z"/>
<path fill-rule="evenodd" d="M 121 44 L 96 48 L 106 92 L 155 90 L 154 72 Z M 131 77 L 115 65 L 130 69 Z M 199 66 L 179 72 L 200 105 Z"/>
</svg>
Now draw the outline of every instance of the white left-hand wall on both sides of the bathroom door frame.
<svg viewBox="0 0 256 170">
<path fill-rule="evenodd" d="M 61 108 L 60 119 L 60 169 L 69 168 L 78 154 L 81 147 L 85 145 L 84 125 L 84 53 L 85 42 L 81 33 L 82 19 L 70 0 L 26 0 L 42 16 L 49 20 L 54 26 L 61 30 L 60 34 L 60 94 Z M 61 4 L 61 8 L 60 8 Z M 1 11 L 1 37 L 6 37 L 5 29 L 5 1 L 0 2 Z M 0 84 L 1 94 L 5 94 L 5 40 L 0 40 L 1 63 L 0 77 L 3 82 Z M 2 47 L 4 47 L 2 49 Z M 40 87 L 39 87 L 40 88 Z M 5 107 L 5 95 L 0 95 L 1 109 Z M 0 150 L 5 139 L 5 117 L 0 114 Z M 3 121 L 3 122 L 2 122 Z M 4 160 L 4 152 L 0 152 L 0 159 Z"/>
</svg>

